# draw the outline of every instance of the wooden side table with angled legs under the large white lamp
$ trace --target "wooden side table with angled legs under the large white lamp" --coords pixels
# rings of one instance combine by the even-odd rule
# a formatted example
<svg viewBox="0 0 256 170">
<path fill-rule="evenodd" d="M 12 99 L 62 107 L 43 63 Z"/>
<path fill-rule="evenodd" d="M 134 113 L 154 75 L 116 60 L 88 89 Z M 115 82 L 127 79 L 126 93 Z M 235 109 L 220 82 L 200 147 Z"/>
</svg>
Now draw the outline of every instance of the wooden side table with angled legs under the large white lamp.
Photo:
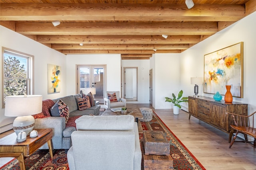
<svg viewBox="0 0 256 170">
<path fill-rule="evenodd" d="M 35 129 L 38 131 L 38 136 L 30 138 L 27 136 L 26 141 L 17 142 L 16 133 L 12 133 L 0 139 L 0 157 L 14 157 L 20 163 L 20 169 L 26 170 L 24 156 L 30 156 L 46 142 L 48 143 L 50 156 L 52 154 L 52 129 Z"/>
</svg>

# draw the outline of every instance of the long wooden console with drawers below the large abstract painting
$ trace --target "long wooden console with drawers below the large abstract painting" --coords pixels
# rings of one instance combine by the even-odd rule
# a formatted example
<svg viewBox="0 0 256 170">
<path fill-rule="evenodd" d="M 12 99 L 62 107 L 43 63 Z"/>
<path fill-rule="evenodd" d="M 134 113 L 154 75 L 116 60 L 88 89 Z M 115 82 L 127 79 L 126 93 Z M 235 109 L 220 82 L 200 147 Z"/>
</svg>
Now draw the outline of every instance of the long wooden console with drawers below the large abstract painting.
<svg viewBox="0 0 256 170">
<path fill-rule="evenodd" d="M 194 116 L 224 132 L 229 132 L 232 125 L 232 117 L 226 112 L 236 113 L 238 115 L 248 115 L 248 104 L 232 102 L 227 103 L 224 100 L 215 101 L 213 98 L 204 96 L 188 97 L 188 112 Z"/>
</svg>

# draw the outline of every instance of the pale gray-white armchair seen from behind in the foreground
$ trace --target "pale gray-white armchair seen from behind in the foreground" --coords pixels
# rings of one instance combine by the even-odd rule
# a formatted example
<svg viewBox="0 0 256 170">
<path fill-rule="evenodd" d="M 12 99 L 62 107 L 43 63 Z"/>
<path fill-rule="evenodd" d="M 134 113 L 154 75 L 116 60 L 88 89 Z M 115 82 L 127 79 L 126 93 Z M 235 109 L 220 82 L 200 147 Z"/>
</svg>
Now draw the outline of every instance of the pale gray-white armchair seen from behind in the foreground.
<svg viewBox="0 0 256 170">
<path fill-rule="evenodd" d="M 141 170 L 138 125 L 132 115 L 76 119 L 68 150 L 70 170 Z"/>
</svg>

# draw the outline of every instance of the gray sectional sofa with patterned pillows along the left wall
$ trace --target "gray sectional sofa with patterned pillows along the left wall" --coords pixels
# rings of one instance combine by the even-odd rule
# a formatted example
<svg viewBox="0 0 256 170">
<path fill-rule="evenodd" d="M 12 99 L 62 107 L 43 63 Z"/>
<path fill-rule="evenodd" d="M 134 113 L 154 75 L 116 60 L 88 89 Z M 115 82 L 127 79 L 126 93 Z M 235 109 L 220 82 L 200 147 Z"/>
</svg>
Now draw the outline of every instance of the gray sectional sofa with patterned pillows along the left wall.
<svg viewBox="0 0 256 170">
<path fill-rule="evenodd" d="M 53 137 L 52 137 L 52 147 L 53 149 L 69 149 L 72 146 L 71 142 L 71 133 L 76 131 L 76 123 L 74 122 L 81 115 L 99 115 L 100 114 L 100 105 L 92 106 L 85 110 L 79 110 L 77 104 L 77 97 L 82 97 L 81 94 L 65 96 L 61 99 L 68 107 L 69 107 L 69 119 L 68 123 L 65 123 L 64 117 L 44 117 L 44 118 L 36 118 L 34 128 L 52 128 L 53 129 Z M 53 99 L 52 103 L 58 101 L 58 99 Z M 49 102 L 48 102 L 49 103 Z M 49 104 L 48 104 L 49 105 Z M 50 104 L 52 105 L 52 104 Z M 42 112 L 50 112 L 50 108 L 52 106 L 44 106 L 43 101 L 43 109 Z M 47 113 L 44 113 L 46 115 Z M 42 146 L 40 149 L 48 149 L 48 145 Z"/>
</svg>

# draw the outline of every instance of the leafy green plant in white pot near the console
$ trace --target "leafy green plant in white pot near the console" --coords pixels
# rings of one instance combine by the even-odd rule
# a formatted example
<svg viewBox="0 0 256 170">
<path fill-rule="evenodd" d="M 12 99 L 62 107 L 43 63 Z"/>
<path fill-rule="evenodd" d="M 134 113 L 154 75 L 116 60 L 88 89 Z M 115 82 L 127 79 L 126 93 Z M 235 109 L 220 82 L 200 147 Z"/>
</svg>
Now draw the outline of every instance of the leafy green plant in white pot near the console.
<svg viewBox="0 0 256 170">
<path fill-rule="evenodd" d="M 179 114 L 179 109 L 181 108 L 180 103 L 182 102 L 188 102 L 188 97 L 182 97 L 183 91 L 180 90 L 178 94 L 178 98 L 176 98 L 175 94 L 172 93 L 172 99 L 166 97 L 165 102 L 172 102 L 174 104 L 173 106 L 173 113 L 174 114 Z"/>
</svg>

